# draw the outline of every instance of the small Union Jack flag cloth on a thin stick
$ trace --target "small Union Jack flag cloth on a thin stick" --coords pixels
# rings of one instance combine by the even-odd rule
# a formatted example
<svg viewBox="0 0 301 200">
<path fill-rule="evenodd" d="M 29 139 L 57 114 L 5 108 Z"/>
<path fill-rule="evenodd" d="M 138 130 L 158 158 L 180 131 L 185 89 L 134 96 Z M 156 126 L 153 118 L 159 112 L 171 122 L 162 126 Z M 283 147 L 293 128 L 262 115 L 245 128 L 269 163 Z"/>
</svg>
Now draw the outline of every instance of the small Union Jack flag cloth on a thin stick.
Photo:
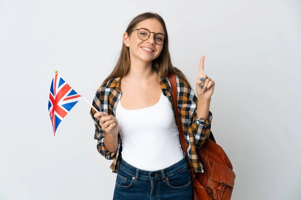
<svg viewBox="0 0 301 200">
<path fill-rule="evenodd" d="M 81 95 L 78 94 L 58 73 L 51 82 L 48 111 L 52 122 L 53 132 L 68 114 L 72 107 L 78 102 Z"/>
</svg>

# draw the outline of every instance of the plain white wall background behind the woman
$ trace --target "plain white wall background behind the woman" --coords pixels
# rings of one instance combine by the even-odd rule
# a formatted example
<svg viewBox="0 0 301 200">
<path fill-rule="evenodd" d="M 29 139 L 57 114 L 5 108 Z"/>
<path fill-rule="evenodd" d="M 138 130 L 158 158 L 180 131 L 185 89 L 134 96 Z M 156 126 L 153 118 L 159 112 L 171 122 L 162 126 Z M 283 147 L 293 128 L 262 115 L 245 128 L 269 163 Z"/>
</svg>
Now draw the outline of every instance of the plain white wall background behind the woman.
<svg viewBox="0 0 301 200">
<path fill-rule="evenodd" d="M 112 199 L 81 100 L 54 137 L 55 70 L 92 101 L 130 20 L 163 16 L 175 66 L 216 81 L 212 131 L 236 173 L 232 199 L 301 199 L 299 0 L 0 0 L 0 199 Z"/>
</svg>

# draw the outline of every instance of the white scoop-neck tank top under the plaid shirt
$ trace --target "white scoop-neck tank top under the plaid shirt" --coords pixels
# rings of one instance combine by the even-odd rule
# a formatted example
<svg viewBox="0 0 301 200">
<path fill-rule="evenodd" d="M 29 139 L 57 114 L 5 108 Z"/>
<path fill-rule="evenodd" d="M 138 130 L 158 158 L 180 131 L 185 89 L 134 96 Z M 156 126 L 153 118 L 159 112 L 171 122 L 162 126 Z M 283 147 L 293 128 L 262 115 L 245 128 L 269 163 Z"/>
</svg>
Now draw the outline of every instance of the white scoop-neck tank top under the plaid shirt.
<svg viewBox="0 0 301 200">
<path fill-rule="evenodd" d="M 170 100 L 161 92 L 158 103 L 128 110 L 117 104 L 122 158 L 142 170 L 166 168 L 184 157 Z"/>
</svg>

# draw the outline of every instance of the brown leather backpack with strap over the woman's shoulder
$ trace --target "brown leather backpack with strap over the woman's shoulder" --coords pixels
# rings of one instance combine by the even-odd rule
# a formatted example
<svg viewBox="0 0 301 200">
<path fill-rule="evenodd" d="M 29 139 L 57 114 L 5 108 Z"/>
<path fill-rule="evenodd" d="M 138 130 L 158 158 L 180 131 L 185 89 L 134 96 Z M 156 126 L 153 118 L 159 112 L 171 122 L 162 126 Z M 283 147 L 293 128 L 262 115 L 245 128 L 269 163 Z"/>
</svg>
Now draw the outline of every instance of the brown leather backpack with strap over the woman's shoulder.
<svg viewBox="0 0 301 200">
<path fill-rule="evenodd" d="M 210 131 L 209 138 L 200 147 L 196 148 L 200 162 L 204 166 L 204 173 L 195 173 L 188 157 L 186 141 L 181 125 L 177 98 L 177 83 L 175 74 L 169 76 L 172 85 L 172 96 L 177 115 L 178 129 L 180 131 L 182 149 L 187 155 L 190 177 L 194 190 L 194 200 L 229 200 L 231 199 L 235 173 L 232 163 L 223 148 L 215 142 Z"/>
</svg>

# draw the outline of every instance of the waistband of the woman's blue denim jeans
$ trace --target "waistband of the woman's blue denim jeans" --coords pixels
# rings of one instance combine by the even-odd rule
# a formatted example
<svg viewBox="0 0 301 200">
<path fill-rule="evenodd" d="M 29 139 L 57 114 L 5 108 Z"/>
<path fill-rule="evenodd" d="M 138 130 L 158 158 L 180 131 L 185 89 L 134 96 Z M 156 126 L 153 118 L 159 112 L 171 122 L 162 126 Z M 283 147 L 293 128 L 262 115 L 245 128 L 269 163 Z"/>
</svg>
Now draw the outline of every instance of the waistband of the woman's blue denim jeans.
<svg viewBox="0 0 301 200">
<path fill-rule="evenodd" d="M 178 171 L 181 171 L 188 167 L 187 165 L 187 156 L 184 153 L 184 157 L 176 162 L 175 164 L 166 167 L 164 169 L 159 169 L 156 171 L 147 171 L 147 170 L 142 170 L 139 168 L 134 167 L 133 165 L 127 163 L 124 159 L 120 160 L 120 165 L 119 168 L 123 170 L 124 172 L 128 173 L 129 175 L 135 177 L 135 180 L 137 181 L 138 178 L 141 179 L 157 179 L 157 178 L 163 178 L 165 179 L 168 176 L 171 176 Z"/>
</svg>

